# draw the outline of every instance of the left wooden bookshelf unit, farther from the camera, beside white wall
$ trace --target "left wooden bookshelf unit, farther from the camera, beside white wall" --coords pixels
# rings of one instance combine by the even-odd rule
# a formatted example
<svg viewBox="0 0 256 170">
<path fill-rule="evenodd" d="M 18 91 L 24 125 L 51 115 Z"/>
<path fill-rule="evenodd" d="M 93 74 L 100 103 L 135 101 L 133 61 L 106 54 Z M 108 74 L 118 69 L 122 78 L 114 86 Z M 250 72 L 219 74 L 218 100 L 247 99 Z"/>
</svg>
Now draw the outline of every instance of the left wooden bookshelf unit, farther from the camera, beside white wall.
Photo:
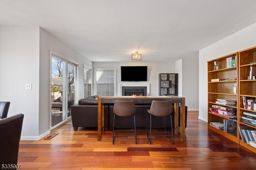
<svg viewBox="0 0 256 170">
<path fill-rule="evenodd" d="M 228 58 L 235 59 L 234 65 L 228 65 Z M 218 62 L 218 69 L 214 69 L 214 63 Z M 239 143 L 238 136 L 238 121 L 229 119 L 226 116 L 212 113 L 210 108 L 212 105 L 232 107 L 237 109 L 237 105 L 222 105 L 215 103 L 217 99 L 232 99 L 238 101 L 237 93 L 234 93 L 233 85 L 238 86 L 238 67 L 236 66 L 238 62 L 238 53 L 232 53 L 219 57 L 210 61 L 208 63 L 208 128 L 222 134 L 223 136 L 233 140 L 236 143 Z M 236 78 L 232 80 L 227 80 L 230 78 Z M 220 81 L 213 81 L 213 79 L 220 79 Z M 224 132 L 222 129 L 215 128 L 211 126 L 210 122 L 220 122 L 223 123 L 224 119 L 234 121 L 236 124 L 235 132 Z"/>
</svg>

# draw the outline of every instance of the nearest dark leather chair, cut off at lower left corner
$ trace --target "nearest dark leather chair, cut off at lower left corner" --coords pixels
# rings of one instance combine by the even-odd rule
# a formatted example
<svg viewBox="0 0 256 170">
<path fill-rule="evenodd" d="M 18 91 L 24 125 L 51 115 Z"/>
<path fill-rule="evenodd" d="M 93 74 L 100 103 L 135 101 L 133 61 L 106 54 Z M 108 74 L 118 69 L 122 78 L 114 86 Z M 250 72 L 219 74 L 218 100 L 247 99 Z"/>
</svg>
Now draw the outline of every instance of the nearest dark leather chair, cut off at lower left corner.
<svg viewBox="0 0 256 170">
<path fill-rule="evenodd" d="M 1 164 L 18 163 L 20 135 L 23 114 L 14 115 L 0 120 L 0 162 Z M 15 167 L 13 169 L 16 169 Z"/>
</svg>

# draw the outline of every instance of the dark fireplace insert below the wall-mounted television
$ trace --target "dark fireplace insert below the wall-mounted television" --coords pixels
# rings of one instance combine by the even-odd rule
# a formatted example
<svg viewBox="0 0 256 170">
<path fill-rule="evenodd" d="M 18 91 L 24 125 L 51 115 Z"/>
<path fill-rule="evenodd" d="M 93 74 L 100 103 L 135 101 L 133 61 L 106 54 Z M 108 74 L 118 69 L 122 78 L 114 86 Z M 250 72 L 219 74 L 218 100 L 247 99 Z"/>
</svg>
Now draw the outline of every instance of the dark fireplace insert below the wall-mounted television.
<svg viewBox="0 0 256 170">
<path fill-rule="evenodd" d="M 147 87 L 143 86 L 123 86 L 122 87 L 122 96 L 146 96 Z"/>
</svg>

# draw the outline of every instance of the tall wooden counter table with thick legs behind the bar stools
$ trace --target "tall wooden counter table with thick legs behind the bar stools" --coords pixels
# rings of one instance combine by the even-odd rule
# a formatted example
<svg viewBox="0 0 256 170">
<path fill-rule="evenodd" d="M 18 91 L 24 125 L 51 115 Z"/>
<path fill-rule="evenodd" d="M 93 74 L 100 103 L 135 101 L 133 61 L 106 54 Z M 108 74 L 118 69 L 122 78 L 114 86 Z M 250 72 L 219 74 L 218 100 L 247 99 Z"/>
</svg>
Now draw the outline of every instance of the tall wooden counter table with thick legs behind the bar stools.
<svg viewBox="0 0 256 170">
<path fill-rule="evenodd" d="M 98 140 L 102 139 L 104 134 L 104 105 L 113 104 L 116 100 L 133 100 L 136 104 L 150 104 L 153 100 L 166 101 L 174 103 L 174 132 L 180 132 L 180 140 L 185 141 L 185 97 L 178 96 L 102 96 L 98 98 Z M 180 127 L 178 127 L 178 106 L 180 103 Z"/>
</svg>

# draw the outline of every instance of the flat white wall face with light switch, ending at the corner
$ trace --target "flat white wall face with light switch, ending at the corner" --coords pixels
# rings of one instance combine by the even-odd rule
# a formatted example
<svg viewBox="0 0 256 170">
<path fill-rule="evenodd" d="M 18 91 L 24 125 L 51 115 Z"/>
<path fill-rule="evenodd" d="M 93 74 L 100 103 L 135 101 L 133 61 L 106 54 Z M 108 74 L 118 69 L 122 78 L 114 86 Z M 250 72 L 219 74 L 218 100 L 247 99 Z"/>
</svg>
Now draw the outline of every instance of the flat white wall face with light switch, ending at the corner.
<svg viewBox="0 0 256 170">
<path fill-rule="evenodd" d="M 38 91 L 39 28 L 0 26 L 0 101 L 10 101 L 8 117 L 24 114 L 22 136 L 38 136 Z"/>
</svg>

